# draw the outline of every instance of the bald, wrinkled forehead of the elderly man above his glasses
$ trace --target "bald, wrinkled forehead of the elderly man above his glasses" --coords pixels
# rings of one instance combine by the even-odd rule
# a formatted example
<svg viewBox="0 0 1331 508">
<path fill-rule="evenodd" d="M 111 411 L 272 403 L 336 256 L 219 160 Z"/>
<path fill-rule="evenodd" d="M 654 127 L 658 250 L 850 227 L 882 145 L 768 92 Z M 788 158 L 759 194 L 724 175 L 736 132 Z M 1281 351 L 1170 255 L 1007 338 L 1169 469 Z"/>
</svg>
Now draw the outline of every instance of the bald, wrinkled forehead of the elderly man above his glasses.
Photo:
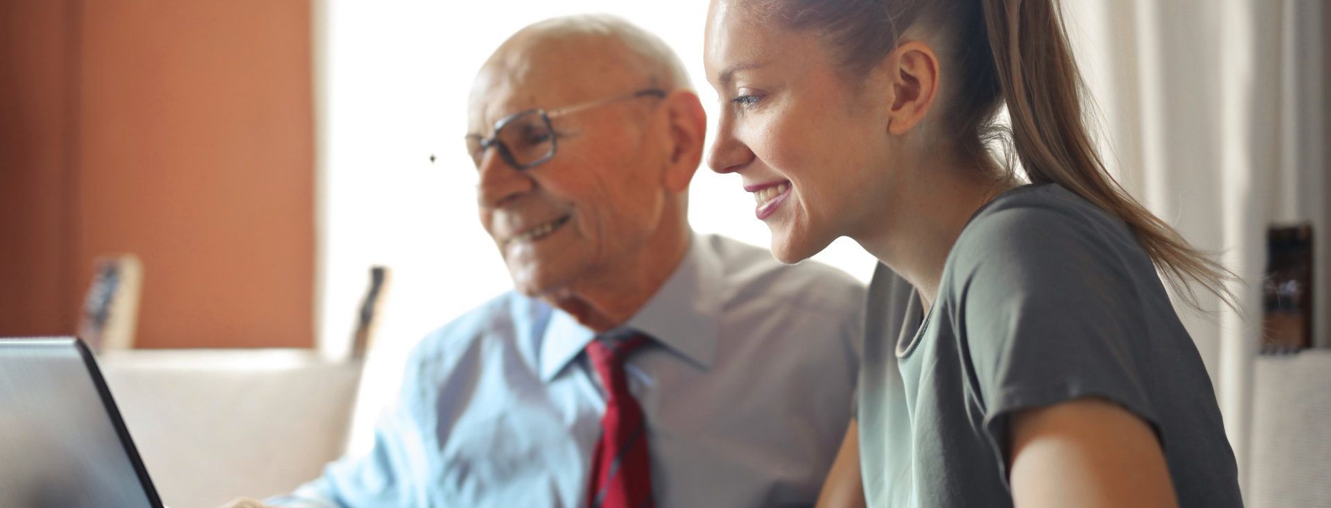
<svg viewBox="0 0 1331 508">
<path fill-rule="evenodd" d="M 508 114 L 630 92 L 639 70 L 610 37 L 510 40 L 480 68 L 467 105 L 467 132 L 488 136 Z"/>
</svg>

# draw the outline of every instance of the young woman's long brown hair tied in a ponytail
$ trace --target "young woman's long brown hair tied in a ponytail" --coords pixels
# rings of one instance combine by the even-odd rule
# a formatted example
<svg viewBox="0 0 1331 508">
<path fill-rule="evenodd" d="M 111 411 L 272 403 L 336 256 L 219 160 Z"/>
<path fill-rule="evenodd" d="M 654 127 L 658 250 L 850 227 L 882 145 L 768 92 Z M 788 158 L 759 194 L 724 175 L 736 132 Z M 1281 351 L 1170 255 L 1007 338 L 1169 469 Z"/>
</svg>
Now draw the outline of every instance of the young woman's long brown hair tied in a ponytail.
<svg viewBox="0 0 1331 508">
<path fill-rule="evenodd" d="M 864 76 L 920 24 L 944 37 L 944 68 L 958 69 L 941 90 L 941 132 L 976 161 L 1006 142 L 1032 184 L 1058 184 L 1127 225 L 1174 293 L 1201 309 L 1190 282 L 1236 305 L 1236 275 L 1197 250 L 1133 199 L 1105 168 L 1086 128 L 1085 85 L 1055 0 L 759 0 L 769 21 L 816 29 Z M 937 49 L 937 48 L 936 48 Z M 1008 106 L 1010 126 L 996 121 Z M 988 164 L 985 166 L 989 166 Z M 1006 165 L 1009 177 L 1014 168 Z"/>
</svg>

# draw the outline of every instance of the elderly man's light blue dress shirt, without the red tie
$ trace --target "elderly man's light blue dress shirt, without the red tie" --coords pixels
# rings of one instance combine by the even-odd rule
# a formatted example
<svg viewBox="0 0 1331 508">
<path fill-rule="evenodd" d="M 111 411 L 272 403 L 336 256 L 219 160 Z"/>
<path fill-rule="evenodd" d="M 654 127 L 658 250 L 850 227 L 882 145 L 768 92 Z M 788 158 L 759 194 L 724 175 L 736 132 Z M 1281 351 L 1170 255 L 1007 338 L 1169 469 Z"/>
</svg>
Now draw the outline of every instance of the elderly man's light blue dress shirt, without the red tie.
<svg viewBox="0 0 1331 508">
<path fill-rule="evenodd" d="M 695 235 L 622 328 L 647 415 L 656 504 L 812 505 L 851 418 L 864 287 L 825 265 Z M 606 395 L 572 317 L 507 293 L 430 334 L 367 456 L 297 507 L 583 507 Z"/>
</svg>

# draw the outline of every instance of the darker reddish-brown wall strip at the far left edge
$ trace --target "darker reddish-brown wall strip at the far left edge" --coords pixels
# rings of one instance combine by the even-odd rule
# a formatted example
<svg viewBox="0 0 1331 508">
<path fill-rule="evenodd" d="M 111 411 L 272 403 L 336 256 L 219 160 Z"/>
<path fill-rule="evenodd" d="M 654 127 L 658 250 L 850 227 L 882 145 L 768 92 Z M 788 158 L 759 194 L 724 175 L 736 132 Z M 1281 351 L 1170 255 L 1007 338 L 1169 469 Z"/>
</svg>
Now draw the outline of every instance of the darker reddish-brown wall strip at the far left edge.
<svg viewBox="0 0 1331 508">
<path fill-rule="evenodd" d="M 71 13 L 0 1 L 0 335 L 73 330 Z"/>
</svg>

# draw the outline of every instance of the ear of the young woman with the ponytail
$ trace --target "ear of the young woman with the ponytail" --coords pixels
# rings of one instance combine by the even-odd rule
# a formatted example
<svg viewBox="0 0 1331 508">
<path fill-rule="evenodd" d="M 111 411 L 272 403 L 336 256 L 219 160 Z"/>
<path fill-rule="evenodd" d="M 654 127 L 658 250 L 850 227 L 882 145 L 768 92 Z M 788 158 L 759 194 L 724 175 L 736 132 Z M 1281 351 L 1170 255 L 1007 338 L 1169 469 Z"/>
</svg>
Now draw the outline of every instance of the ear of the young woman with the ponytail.
<svg viewBox="0 0 1331 508">
<path fill-rule="evenodd" d="M 904 134 L 920 125 L 938 98 L 938 56 L 928 44 L 909 40 L 882 60 L 888 89 L 888 133 Z"/>
</svg>

